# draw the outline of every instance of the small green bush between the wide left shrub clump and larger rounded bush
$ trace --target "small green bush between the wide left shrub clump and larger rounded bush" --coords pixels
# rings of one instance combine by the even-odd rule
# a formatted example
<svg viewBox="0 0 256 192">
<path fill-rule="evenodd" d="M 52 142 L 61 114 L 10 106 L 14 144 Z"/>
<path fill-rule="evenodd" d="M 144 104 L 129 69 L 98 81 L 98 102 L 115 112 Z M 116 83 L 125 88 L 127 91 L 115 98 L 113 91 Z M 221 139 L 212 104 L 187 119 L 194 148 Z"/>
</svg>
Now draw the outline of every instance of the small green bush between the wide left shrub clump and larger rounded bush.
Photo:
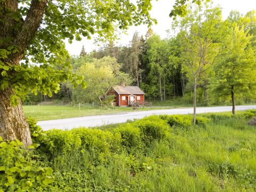
<svg viewBox="0 0 256 192">
<path fill-rule="evenodd" d="M 141 147 L 141 132 L 138 127 L 134 127 L 131 123 L 126 123 L 113 130 L 114 133 L 120 133 L 122 137 L 122 145 L 126 150 Z"/>
</svg>

